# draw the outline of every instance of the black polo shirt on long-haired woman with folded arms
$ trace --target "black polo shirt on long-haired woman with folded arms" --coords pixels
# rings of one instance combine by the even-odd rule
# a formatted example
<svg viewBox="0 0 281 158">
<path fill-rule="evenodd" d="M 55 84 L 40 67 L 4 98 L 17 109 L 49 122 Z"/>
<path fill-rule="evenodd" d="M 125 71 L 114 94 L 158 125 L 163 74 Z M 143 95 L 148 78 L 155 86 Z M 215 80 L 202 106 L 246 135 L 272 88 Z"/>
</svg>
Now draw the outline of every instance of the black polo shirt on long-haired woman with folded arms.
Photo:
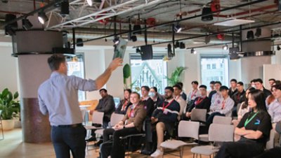
<svg viewBox="0 0 281 158">
<path fill-rule="evenodd" d="M 254 116 L 254 112 L 246 113 L 239 124 L 237 125 L 238 128 L 244 127 L 244 124 L 246 120 L 250 120 L 252 116 Z M 270 129 L 272 129 L 270 115 L 266 113 L 265 111 L 260 111 L 256 116 L 253 117 L 251 121 L 246 125 L 245 129 L 247 130 L 254 130 L 254 131 L 261 131 L 263 133 L 263 136 L 259 139 L 256 139 L 253 141 L 256 141 L 256 143 L 261 143 L 262 145 L 266 145 L 266 142 L 268 141 L 268 138 L 270 136 Z M 244 138 L 242 136 L 242 138 Z M 247 139 L 247 138 L 244 138 Z"/>
</svg>

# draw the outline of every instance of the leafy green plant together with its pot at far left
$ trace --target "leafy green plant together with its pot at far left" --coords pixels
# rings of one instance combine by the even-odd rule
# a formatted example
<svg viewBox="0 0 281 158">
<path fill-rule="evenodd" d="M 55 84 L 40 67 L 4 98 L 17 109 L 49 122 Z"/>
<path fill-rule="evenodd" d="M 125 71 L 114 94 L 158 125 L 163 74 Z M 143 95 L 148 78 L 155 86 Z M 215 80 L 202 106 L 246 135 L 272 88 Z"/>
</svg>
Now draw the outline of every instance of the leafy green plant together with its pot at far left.
<svg viewBox="0 0 281 158">
<path fill-rule="evenodd" d="M 12 94 L 8 88 L 4 89 L 0 94 L 0 110 L 2 110 L 1 118 L 4 130 L 11 130 L 15 126 L 13 117 L 18 117 L 20 112 L 20 101 L 18 92 Z"/>
</svg>

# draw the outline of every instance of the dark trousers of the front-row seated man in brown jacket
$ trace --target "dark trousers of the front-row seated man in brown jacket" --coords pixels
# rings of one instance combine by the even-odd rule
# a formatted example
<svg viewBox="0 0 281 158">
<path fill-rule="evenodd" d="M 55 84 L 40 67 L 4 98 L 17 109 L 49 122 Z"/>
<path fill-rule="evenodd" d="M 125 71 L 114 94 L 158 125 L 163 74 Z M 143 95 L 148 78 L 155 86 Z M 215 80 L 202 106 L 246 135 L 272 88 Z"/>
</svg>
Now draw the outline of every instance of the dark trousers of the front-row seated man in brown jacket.
<svg viewBox="0 0 281 158">
<path fill-rule="evenodd" d="M 112 135 L 112 150 L 111 157 L 112 158 L 123 158 L 124 157 L 124 146 L 121 145 L 121 136 L 128 136 L 131 134 L 139 134 L 140 131 L 136 129 L 136 127 L 120 129 L 115 131 L 114 129 L 105 129 L 103 131 L 103 140 L 104 142 L 109 141 L 110 135 Z M 103 151 L 101 151 L 103 152 Z"/>
</svg>

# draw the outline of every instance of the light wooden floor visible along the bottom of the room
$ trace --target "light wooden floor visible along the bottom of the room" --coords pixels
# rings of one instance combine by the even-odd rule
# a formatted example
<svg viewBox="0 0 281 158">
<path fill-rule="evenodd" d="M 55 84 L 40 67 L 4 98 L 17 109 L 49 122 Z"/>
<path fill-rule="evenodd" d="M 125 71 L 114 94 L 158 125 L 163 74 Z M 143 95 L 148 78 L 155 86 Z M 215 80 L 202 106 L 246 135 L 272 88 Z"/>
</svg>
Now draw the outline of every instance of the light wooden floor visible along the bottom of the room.
<svg viewBox="0 0 281 158">
<path fill-rule="evenodd" d="M 178 154 L 178 152 L 174 152 Z M 192 157 L 190 147 L 184 148 L 184 157 Z M 1 158 L 53 158 L 55 152 L 51 143 L 22 143 L 22 130 L 13 129 L 12 131 L 4 131 L 4 140 L 0 141 L 0 157 Z M 98 150 L 93 150 L 89 147 L 86 151 L 86 158 L 98 157 Z M 131 157 L 148 157 L 141 154 L 134 154 Z M 165 158 L 176 157 L 172 155 L 165 155 Z M 204 156 L 202 156 L 204 158 Z"/>
</svg>

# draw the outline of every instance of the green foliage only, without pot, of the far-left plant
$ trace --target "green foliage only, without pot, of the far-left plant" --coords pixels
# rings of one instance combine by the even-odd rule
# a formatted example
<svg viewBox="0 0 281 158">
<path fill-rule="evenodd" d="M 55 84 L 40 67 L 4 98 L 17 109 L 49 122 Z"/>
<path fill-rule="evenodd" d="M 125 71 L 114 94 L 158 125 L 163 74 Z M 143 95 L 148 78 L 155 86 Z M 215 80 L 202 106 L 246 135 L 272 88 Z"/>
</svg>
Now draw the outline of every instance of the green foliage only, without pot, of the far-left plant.
<svg viewBox="0 0 281 158">
<path fill-rule="evenodd" d="M 18 117 L 20 112 L 20 101 L 18 99 L 18 92 L 12 94 L 8 88 L 4 89 L 0 94 L 0 110 L 2 110 L 1 117 L 3 120 L 12 120 L 13 117 Z"/>
</svg>

